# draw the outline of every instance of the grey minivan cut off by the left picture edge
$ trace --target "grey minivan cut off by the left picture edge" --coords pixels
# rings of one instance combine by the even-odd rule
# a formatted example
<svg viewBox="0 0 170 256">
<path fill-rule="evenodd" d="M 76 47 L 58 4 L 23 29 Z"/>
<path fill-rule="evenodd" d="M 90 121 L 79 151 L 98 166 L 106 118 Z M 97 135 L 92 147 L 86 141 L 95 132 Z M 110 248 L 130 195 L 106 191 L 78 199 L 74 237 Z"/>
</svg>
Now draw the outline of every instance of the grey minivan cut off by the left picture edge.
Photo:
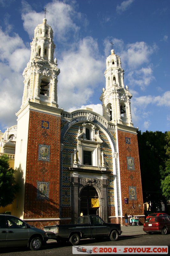
<svg viewBox="0 0 170 256">
<path fill-rule="evenodd" d="M 0 214 L 0 247 L 27 246 L 35 251 L 47 240 L 44 230 L 34 228 L 13 215 Z"/>
</svg>

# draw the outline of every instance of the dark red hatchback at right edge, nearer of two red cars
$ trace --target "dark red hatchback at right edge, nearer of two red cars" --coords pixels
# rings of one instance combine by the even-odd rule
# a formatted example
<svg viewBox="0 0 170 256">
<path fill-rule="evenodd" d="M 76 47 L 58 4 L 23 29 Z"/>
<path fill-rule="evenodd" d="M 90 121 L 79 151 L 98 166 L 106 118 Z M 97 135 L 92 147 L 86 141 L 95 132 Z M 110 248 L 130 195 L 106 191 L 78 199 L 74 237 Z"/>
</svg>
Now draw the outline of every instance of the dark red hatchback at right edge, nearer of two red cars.
<svg viewBox="0 0 170 256">
<path fill-rule="evenodd" d="M 144 232 L 152 234 L 152 232 L 161 232 L 166 235 L 170 231 L 170 216 L 159 215 L 148 217 L 144 222 Z"/>
</svg>

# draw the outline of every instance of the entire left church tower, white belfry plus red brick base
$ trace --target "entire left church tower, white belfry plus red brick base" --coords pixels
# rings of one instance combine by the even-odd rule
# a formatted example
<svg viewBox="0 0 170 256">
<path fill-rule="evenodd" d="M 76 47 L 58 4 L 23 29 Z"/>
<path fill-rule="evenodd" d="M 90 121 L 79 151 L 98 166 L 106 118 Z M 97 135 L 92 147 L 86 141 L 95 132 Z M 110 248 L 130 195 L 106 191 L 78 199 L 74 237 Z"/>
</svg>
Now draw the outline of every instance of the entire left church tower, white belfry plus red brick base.
<svg viewBox="0 0 170 256">
<path fill-rule="evenodd" d="M 35 226 L 36 219 L 44 226 L 47 219 L 59 217 L 62 110 L 57 104 L 60 69 L 54 51 L 53 30 L 44 18 L 34 30 L 30 60 L 23 72 L 22 105 L 16 113 L 15 168 L 22 171 L 24 182 L 12 212 Z"/>
</svg>

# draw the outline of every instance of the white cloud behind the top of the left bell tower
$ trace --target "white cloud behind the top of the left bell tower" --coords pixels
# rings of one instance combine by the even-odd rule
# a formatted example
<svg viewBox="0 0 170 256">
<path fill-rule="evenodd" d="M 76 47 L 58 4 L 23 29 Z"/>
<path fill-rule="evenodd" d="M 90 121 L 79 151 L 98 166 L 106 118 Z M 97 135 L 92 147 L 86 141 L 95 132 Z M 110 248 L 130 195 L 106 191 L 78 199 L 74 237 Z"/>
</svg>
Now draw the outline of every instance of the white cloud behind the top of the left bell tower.
<svg viewBox="0 0 170 256">
<path fill-rule="evenodd" d="M 24 21 L 24 28 L 31 39 L 33 37 L 35 27 L 37 24 L 42 22 L 44 11 L 40 13 L 33 11 L 32 7 L 26 1 L 22 1 L 22 6 L 22 20 Z M 50 12 L 50 15 L 48 15 L 48 13 L 46 15 L 47 23 L 53 28 L 55 38 L 57 38 L 57 40 L 65 41 L 71 33 L 72 38 L 75 39 L 80 27 L 74 22 L 74 20 L 81 20 L 82 14 L 75 11 L 74 4 L 66 4 L 56 0 L 52 3 L 48 3 L 46 7 L 48 12 Z"/>
</svg>

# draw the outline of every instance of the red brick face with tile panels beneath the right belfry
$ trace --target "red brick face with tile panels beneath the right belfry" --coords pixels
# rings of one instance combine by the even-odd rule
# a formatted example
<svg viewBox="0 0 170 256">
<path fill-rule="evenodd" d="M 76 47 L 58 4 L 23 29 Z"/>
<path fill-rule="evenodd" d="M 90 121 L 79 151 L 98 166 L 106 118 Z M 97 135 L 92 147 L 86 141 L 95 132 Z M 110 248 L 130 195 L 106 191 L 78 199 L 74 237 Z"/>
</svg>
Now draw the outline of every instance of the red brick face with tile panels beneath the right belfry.
<svg viewBox="0 0 170 256">
<path fill-rule="evenodd" d="M 139 153 L 137 134 L 118 131 L 121 193 L 122 193 L 122 215 L 143 215 L 143 196 L 139 164 Z M 124 198 L 129 203 L 124 203 Z M 123 219 L 124 220 L 124 219 Z"/>
</svg>

